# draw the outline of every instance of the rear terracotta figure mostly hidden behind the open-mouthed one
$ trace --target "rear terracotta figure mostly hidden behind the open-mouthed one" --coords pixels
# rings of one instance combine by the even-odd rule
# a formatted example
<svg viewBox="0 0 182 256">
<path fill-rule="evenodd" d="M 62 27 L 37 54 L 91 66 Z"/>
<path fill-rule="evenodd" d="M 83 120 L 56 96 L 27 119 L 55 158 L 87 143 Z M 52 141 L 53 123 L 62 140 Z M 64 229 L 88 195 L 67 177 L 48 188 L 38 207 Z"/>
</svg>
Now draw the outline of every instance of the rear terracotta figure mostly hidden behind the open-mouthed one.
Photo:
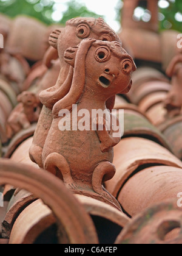
<svg viewBox="0 0 182 256">
<path fill-rule="evenodd" d="M 69 87 L 64 88 L 64 90 L 61 88 L 69 74 L 70 68 L 70 66 L 64 62 L 64 52 L 67 48 L 78 45 L 85 38 L 120 42 L 118 35 L 104 23 L 102 18 L 96 20 L 94 18 L 75 18 L 67 21 L 64 29 L 56 29 L 50 35 L 49 43 L 58 51 L 61 70 L 56 85 L 48 90 L 42 91 L 40 95 L 41 102 L 44 106 L 38 121 L 38 126 L 35 130 L 32 147 L 30 148 L 30 158 L 41 168 L 43 167 L 42 148 L 44 147 L 45 139 L 53 120 L 52 107 L 59 99 L 69 93 L 70 90 Z M 47 63 L 51 61 L 50 59 L 55 58 L 55 51 L 49 49 L 47 52 Z M 115 97 L 109 102 L 107 108 L 111 110 L 114 102 Z"/>
</svg>

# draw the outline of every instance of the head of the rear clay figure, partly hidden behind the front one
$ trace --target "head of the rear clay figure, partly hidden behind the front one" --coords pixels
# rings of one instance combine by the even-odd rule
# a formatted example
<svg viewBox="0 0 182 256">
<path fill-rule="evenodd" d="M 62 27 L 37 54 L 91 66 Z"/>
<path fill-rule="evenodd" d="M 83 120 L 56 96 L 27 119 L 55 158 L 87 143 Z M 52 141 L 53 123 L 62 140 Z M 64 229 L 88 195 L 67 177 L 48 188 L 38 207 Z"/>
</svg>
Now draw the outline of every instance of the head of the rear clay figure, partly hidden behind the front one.
<svg viewBox="0 0 182 256">
<path fill-rule="evenodd" d="M 120 42 L 118 35 L 102 18 L 75 18 L 67 21 L 63 29 L 54 30 L 50 35 L 49 43 L 53 48 L 58 49 L 60 58 L 67 48 L 79 44 L 86 38 Z"/>
</svg>

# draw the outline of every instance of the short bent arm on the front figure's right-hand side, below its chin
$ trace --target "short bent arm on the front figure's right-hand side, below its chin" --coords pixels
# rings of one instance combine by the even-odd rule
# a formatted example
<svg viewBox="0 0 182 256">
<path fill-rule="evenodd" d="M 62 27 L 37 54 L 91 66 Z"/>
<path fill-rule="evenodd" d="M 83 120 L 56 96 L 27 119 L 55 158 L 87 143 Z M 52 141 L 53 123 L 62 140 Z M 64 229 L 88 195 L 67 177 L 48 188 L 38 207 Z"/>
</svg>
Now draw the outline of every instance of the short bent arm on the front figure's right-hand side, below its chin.
<svg viewBox="0 0 182 256">
<path fill-rule="evenodd" d="M 112 118 L 115 118 L 112 116 Z M 116 118 L 117 126 L 119 126 L 119 120 Z M 96 118 L 95 124 L 97 126 L 96 133 L 98 134 L 99 140 L 101 141 L 101 151 L 106 152 L 110 148 L 113 148 L 116 144 L 120 143 L 121 137 L 113 137 L 113 132 L 117 132 L 111 129 L 110 131 L 106 128 L 106 120 L 104 118 Z M 119 129 L 118 129 L 119 131 Z"/>
</svg>

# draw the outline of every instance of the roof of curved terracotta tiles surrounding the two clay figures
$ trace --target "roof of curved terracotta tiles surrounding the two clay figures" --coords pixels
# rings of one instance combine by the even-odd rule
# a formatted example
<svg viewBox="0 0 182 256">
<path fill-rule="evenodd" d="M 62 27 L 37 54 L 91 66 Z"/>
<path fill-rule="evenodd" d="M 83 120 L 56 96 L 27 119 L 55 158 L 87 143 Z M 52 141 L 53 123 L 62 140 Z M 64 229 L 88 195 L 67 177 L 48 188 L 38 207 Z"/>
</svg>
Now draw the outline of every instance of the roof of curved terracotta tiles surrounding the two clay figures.
<svg viewBox="0 0 182 256">
<path fill-rule="evenodd" d="M 0 49 L 0 243 L 181 244 L 182 104 L 177 111 L 165 105 L 174 88 L 165 71 L 177 33 L 124 23 L 120 37 L 138 69 L 129 94 L 116 96 L 124 134 L 114 148 L 115 176 L 104 183 L 109 199 L 103 199 L 91 191 L 72 193 L 61 174 L 55 177 L 30 160 L 34 115 L 42 108 L 35 99 L 56 83 L 60 64 L 51 59 L 48 68 L 42 60 L 51 27 L 22 16 L 12 22 L 0 15 L 0 22 L 0 33 L 4 23 L 8 34 Z M 33 117 L 26 126 L 17 120 L 27 113 L 30 97 Z"/>
</svg>

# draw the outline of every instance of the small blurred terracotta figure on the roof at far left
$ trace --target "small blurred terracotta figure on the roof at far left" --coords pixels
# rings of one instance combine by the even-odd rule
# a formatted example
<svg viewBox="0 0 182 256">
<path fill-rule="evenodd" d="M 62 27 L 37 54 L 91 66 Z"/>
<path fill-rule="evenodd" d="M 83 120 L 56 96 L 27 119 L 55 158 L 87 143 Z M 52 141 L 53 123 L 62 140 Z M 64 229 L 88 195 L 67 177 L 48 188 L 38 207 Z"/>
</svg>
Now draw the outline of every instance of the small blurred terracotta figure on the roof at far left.
<svg viewBox="0 0 182 256">
<path fill-rule="evenodd" d="M 39 99 L 35 94 L 24 91 L 17 99 L 20 104 L 13 110 L 7 121 L 8 139 L 11 139 L 21 129 L 29 128 L 39 118 Z"/>
</svg>

